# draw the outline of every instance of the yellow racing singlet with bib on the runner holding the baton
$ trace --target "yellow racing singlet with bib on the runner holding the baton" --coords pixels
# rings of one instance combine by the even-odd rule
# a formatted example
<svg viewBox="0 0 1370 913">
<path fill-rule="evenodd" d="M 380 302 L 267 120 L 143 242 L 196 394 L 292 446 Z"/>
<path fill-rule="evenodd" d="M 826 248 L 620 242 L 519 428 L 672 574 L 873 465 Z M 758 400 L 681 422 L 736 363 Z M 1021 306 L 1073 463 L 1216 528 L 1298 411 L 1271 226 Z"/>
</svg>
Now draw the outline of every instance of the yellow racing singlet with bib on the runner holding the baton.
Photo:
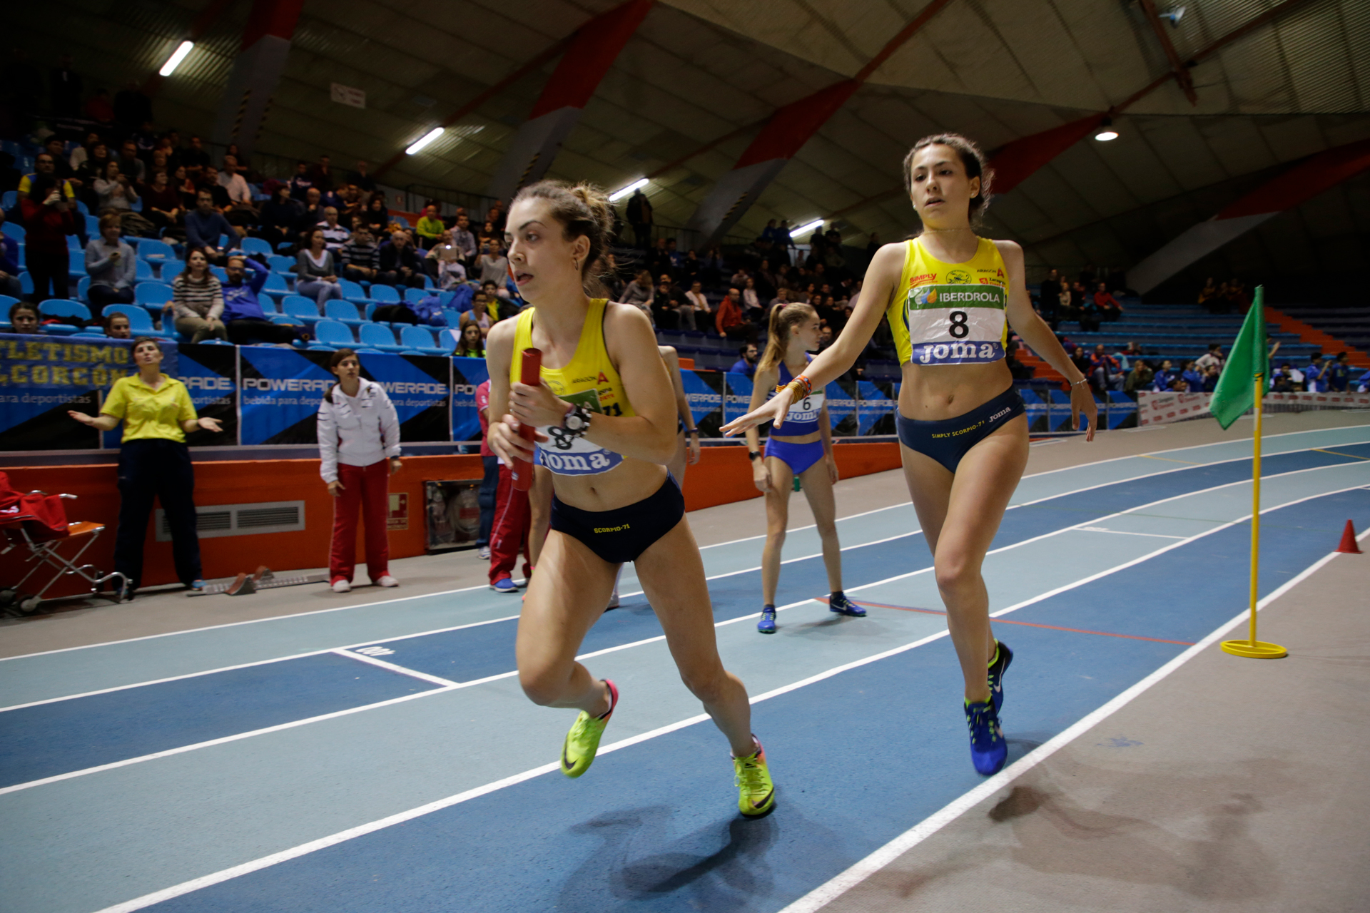
<svg viewBox="0 0 1370 913">
<path fill-rule="evenodd" d="M 600 415 L 636 415 L 623 391 L 623 381 L 604 348 L 604 305 L 607 298 L 592 298 L 585 312 L 585 326 L 575 344 L 575 355 L 560 368 L 543 365 L 543 383 L 567 402 L 584 405 Z M 519 382 L 523 349 L 533 345 L 533 319 L 537 308 L 518 315 L 514 331 L 514 359 L 510 361 L 510 383 Z M 606 450 L 585 438 L 567 435 L 559 424 L 538 428 L 551 439 L 537 445 L 537 463 L 558 475 L 599 475 L 623 461 L 622 454 Z"/>
</svg>

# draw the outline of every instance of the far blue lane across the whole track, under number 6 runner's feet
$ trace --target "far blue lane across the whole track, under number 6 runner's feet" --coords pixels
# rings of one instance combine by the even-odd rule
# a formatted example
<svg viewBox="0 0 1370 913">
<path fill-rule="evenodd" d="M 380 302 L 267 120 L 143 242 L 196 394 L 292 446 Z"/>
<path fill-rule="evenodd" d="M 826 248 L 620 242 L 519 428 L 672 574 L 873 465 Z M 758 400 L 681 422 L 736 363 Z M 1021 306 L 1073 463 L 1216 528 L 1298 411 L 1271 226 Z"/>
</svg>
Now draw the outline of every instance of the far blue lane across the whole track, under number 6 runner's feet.
<svg viewBox="0 0 1370 913">
<path fill-rule="evenodd" d="M 1267 457 L 1265 475 L 1269 478 L 1370 457 L 1370 443 L 1338 446 L 1336 450 L 1338 453 L 1300 450 Z M 1234 460 L 1048 498 L 1006 512 L 993 548 L 1249 478 L 1251 461 Z M 843 553 L 848 589 L 888 578 L 892 572 L 927 567 L 932 567 L 932 556 L 921 532 Z M 795 561 L 782 568 L 778 602 L 784 605 L 814 598 L 825 594 L 826 589 L 822 558 Z M 715 620 L 754 613 L 759 608 L 759 571 L 711 580 Z M 516 610 L 518 600 L 510 598 L 510 612 Z M 389 663 L 453 682 L 471 682 L 514 668 L 515 631 L 514 621 L 497 621 L 378 645 L 395 652 L 385 657 Z M 660 632 L 651 606 L 638 595 L 625 600 L 619 610 L 606 613 L 590 628 L 581 652 L 633 643 Z M 315 656 L 0 712 L 0 787 L 433 687 L 345 657 Z"/>
</svg>

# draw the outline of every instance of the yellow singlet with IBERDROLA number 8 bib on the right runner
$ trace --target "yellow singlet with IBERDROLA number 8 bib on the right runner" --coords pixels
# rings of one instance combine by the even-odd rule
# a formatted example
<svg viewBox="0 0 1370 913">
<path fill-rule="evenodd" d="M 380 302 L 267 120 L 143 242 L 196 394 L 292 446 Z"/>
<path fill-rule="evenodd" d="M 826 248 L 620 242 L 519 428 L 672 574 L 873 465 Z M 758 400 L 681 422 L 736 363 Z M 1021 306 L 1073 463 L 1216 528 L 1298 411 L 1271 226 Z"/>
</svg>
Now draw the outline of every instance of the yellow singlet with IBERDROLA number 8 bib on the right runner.
<svg viewBox="0 0 1370 913">
<path fill-rule="evenodd" d="M 966 263 L 943 263 L 914 238 L 886 309 L 899 363 L 985 364 L 1008 341 L 1008 271 L 989 238 Z"/>
</svg>

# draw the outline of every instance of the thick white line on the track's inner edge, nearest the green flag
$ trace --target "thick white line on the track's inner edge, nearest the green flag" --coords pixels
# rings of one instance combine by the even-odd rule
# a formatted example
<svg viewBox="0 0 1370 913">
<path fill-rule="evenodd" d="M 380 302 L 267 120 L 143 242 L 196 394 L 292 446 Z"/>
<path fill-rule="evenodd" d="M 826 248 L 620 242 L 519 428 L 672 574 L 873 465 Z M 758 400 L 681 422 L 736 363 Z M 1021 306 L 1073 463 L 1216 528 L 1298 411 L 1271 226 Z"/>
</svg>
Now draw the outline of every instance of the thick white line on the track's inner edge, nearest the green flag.
<svg viewBox="0 0 1370 913">
<path fill-rule="evenodd" d="M 1270 595 L 1256 602 L 1256 610 L 1265 609 L 1267 605 L 1282 597 L 1285 593 L 1296 587 L 1299 583 L 1307 580 L 1310 576 L 1312 576 L 1317 571 L 1319 571 L 1334 557 L 1337 557 L 1337 553 L 1332 552 L 1318 558 L 1312 564 L 1310 564 L 1297 576 L 1285 582 Z M 1034 767 L 1040 765 L 1052 754 L 1066 747 L 1077 738 L 1080 738 L 1081 735 L 1084 735 L 1085 732 L 1095 728 L 1096 725 L 1107 720 L 1110 716 L 1125 708 L 1133 699 L 1136 699 L 1147 690 L 1149 690 L 1154 684 L 1163 680 L 1171 672 L 1182 667 L 1185 663 L 1199 656 L 1200 653 L 1211 647 L 1214 643 L 1217 643 L 1219 639 L 1222 639 L 1222 636 L 1228 631 L 1245 621 L 1248 615 L 1249 615 L 1248 612 L 1243 612 L 1236 617 L 1230 619 L 1229 621 L 1225 621 L 1214 631 L 1211 631 L 1204 639 L 1199 641 L 1192 647 L 1189 647 L 1175 658 L 1170 660 L 1163 667 L 1160 667 L 1143 680 L 1137 682 L 1118 697 L 1112 698 L 1099 709 L 1081 717 L 1073 725 L 1063 730 L 1054 738 L 1048 739 L 1041 746 L 1033 749 L 1026 756 L 1023 756 L 1014 764 L 1000 771 L 997 775 L 989 777 L 988 780 L 974 787 L 969 793 L 964 793 L 952 802 L 944 805 L 940 810 L 934 812 L 933 814 L 927 816 L 914 827 L 908 828 L 907 831 L 896 836 L 885 846 L 880 847 L 866 858 L 852 865 L 841 875 L 837 875 L 827 883 L 821 884 L 819 887 L 814 888 L 804 897 L 799 898 L 797 901 L 786 906 L 784 910 L 781 910 L 781 913 L 815 913 L 815 910 L 827 906 L 838 897 L 841 897 L 851 888 L 856 887 L 858 884 L 869 879 L 871 875 L 875 875 L 885 866 L 891 865 L 900 856 L 908 853 L 911 849 L 914 849 L 915 846 L 930 838 L 933 834 L 947 827 L 948 824 L 959 819 L 962 814 L 975 808 L 985 799 L 991 798 L 1000 790 L 1006 788 L 1014 780 L 1023 776 Z"/>
</svg>

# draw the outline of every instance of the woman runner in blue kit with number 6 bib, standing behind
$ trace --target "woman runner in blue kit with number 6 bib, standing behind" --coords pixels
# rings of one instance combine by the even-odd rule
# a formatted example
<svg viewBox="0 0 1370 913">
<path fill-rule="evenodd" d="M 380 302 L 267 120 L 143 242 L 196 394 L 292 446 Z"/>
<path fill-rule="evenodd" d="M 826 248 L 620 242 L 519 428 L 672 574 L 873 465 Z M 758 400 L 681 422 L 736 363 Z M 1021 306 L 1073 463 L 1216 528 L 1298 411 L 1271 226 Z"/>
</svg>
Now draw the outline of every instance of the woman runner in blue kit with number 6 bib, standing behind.
<svg viewBox="0 0 1370 913">
<path fill-rule="evenodd" d="M 789 383 L 804 374 L 818 348 L 818 312 L 807 304 L 777 304 L 771 308 L 766 352 L 756 363 L 752 378 L 751 408 L 775 396 L 777 382 Z M 760 449 L 755 427 L 747 428 L 747 450 L 752 459 L 752 480 L 766 496 L 766 548 L 762 550 L 762 617 L 756 630 L 775 632 L 775 586 L 780 583 L 780 550 L 789 523 L 789 493 L 795 476 L 804 486 L 804 496 L 814 512 L 814 524 L 823 542 L 823 565 L 827 568 L 827 606 L 838 615 L 863 616 L 862 609 L 843 594 L 843 553 L 837 542 L 837 506 L 833 485 L 837 463 L 833 460 L 833 426 L 822 387 L 795 400 L 785 413 L 784 433 L 773 431 Z"/>
</svg>

